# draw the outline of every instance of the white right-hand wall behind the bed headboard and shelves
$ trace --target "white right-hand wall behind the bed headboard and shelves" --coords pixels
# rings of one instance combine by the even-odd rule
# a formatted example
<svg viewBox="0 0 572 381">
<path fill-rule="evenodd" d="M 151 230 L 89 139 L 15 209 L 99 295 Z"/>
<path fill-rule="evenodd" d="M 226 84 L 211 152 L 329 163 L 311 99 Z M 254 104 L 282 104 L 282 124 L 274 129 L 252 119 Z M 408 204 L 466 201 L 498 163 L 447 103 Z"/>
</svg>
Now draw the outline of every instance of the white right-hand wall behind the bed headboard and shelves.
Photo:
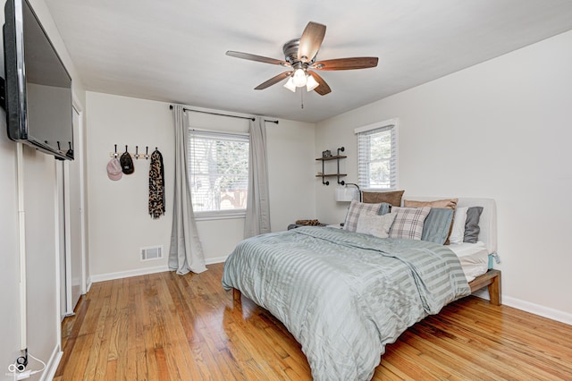
<svg viewBox="0 0 572 381">
<path fill-rule="evenodd" d="M 503 301 L 568 323 L 570 47 L 572 32 L 544 40 L 319 123 L 315 138 L 317 150 L 352 148 L 356 180 L 353 129 L 400 118 L 400 189 L 496 199 Z M 318 216 L 342 220 L 325 188 Z"/>
</svg>

